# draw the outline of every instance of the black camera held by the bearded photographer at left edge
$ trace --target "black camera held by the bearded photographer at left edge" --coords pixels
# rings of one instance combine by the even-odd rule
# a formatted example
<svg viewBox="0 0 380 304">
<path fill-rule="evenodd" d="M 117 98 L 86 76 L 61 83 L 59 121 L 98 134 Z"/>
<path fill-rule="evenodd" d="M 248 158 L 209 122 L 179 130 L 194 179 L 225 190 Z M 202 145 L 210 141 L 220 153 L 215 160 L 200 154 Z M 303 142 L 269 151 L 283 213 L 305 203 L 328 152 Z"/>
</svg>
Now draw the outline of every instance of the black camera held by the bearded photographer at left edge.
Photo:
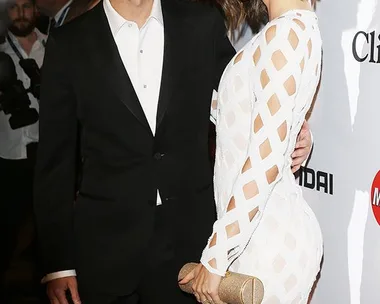
<svg viewBox="0 0 380 304">
<path fill-rule="evenodd" d="M 27 72 L 25 71 L 25 73 Z M 29 74 L 27 75 L 29 76 Z M 32 80 L 31 84 L 33 84 Z M 34 93 L 37 93 L 37 96 L 39 96 L 39 81 L 26 90 L 22 81 L 17 79 L 16 68 L 12 58 L 0 52 L 0 111 L 11 115 L 9 124 L 12 129 L 15 130 L 32 125 L 38 121 L 38 112 L 30 107 L 31 103 L 28 96 L 28 92 L 33 94 L 33 90 L 37 90 Z"/>
</svg>

